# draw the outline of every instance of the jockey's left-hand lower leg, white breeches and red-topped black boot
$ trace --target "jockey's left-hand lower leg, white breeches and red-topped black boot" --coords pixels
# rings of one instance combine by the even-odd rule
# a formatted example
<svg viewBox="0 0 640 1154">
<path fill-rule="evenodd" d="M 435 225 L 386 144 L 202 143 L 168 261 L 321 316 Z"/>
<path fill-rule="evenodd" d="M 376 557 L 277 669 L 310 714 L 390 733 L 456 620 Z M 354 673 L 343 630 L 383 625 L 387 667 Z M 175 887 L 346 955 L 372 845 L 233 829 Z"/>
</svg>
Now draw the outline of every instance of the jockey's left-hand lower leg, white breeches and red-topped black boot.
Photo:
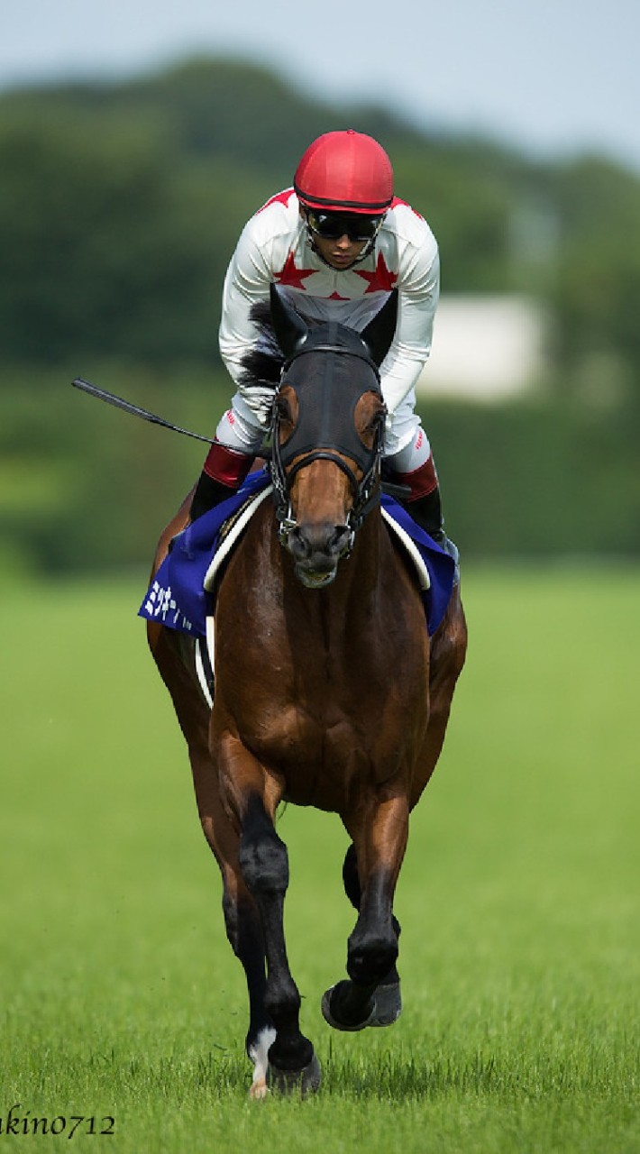
<svg viewBox="0 0 640 1154">
<path fill-rule="evenodd" d="M 261 422 L 236 395 L 219 421 L 216 440 L 206 455 L 191 502 L 191 520 L 238 492 L 263 439 Z"/>
</svg>

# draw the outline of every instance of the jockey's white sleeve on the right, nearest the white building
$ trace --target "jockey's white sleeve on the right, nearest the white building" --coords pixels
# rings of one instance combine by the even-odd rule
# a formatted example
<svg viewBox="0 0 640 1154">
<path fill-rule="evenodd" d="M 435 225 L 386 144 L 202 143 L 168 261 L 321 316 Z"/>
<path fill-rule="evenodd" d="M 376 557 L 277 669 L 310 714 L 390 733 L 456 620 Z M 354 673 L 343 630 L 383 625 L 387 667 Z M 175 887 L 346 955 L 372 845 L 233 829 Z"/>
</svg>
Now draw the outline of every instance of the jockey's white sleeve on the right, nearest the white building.
<svg viewBox="0 0 640 1154">
<path fill-rule="evenodd" d="M 435 241 L 414 250 L 398 275 L 398 325 L 381 366 L 382 391 L 392 415 L 414 387 L 431 350 L 439 297 L 439 257 Z"/>
</svg>

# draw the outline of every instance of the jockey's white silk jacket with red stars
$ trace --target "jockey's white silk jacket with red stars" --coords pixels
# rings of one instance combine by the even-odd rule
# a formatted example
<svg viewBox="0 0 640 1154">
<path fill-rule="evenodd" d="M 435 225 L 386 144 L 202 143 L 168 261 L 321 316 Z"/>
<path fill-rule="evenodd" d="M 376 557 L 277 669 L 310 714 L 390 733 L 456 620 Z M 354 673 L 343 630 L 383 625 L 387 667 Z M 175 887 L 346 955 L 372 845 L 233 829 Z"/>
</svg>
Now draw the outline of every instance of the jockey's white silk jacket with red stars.
<svg viewBox="0 0 640 1154">
<path fill-rule="evenodd" d="M 398 327 L 381 368 L 382 391 L 390 424 L 400 407 L 406 409 L 404 402 L 413 409 L 413 388 L 431 347 L 439 260 L 429 225 L 409 204 L 392 201 L 374 249 L 345 270 L 330 268 L 314 252 L 293 188 L 278 193 L 251 217 L 223 292 L 220 353 L 236 384 L 242 357 L 257 339 L 249 310 L 269 298 L 271 282 L 306 320 L 336 320 L 357 330 L 397 288 Z M 257 417 L 262 406 L 256 394 L 242 396 Z"/>
</svg>

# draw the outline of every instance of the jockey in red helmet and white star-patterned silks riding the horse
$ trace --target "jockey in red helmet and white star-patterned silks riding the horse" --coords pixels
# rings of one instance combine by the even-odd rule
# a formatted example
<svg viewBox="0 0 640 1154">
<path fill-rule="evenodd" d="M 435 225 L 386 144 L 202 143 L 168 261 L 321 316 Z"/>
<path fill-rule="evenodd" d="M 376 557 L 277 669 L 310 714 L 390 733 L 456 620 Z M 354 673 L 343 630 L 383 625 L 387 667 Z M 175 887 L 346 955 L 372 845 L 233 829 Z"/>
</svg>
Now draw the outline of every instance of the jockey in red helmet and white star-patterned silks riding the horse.
<svg viewBox="0 0 640 1154">
<path fill-rule="evenodd" d="M 384 149 L 353 129 L 314 141 L 293 188 L 272 196 L 240 237 L 225 278 L 219 332 L 238 391 L 204 462 L 191 519 L 240 487 L 264 440 L 273 392 L 243 388 L 242 359 L 257 339 L 251 306 L 269 299 L 272 282 L 306 321 L 334 320 L 359 331 L 398 290 L 398 325 L 381 367 L 384 474 L 408 487 L 408 511 L 454 552 L 444 534 L 431 448 L 414 412 L 438 301 L 438 248 L 427 222 L 393 195 Z"/>
</svg>

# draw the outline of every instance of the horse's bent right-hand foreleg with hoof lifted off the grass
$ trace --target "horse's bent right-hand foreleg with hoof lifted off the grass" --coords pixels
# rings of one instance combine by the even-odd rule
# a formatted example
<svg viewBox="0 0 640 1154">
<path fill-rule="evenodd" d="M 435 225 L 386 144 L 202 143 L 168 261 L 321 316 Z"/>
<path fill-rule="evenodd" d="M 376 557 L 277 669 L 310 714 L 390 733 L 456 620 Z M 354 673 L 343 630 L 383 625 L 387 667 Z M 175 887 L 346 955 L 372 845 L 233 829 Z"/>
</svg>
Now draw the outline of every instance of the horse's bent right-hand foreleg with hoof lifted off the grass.
<svg viewBox="0 0 640 1154">
<path fill-rule="evenodd" d="M 353 856 L 347 854 L 345 889 L 352 900 L 360 889 L 359 916 L 347 947 L 351 980 L 326 991 L 322 1011 L 338 1029 L 362 1029 L 390 1025 L 400 1012 L 396 969 L 400 927 L 392 906 L 407 844 L 407 799 L 398 795 L 381 800 L 366 817 L 345 824 L 353 837 L 356 859 L 354 874 Z"/>
</svg>

